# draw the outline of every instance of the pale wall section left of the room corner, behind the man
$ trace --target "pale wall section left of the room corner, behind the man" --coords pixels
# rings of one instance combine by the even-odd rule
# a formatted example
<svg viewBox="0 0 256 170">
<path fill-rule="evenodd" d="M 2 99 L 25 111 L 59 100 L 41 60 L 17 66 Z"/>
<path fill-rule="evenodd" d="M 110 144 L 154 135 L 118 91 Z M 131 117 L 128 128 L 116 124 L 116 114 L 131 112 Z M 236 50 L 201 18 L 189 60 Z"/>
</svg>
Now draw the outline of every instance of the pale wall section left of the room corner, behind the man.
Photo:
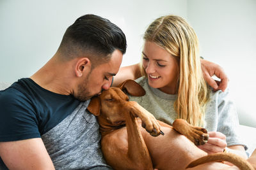
<svg viewBox="0 0 256 170">
<path fill-rule="evenodd" d="M 140 61 L 141 35 L 152 20 L 170 13 L 186 17 L 187 10 L 186 0 L 0 0 L 0 81 L 35 73 L 54 55 L 67 27 L 86 13 L 108 18 L 125 32 L 127 66 Z"/>
</svg>

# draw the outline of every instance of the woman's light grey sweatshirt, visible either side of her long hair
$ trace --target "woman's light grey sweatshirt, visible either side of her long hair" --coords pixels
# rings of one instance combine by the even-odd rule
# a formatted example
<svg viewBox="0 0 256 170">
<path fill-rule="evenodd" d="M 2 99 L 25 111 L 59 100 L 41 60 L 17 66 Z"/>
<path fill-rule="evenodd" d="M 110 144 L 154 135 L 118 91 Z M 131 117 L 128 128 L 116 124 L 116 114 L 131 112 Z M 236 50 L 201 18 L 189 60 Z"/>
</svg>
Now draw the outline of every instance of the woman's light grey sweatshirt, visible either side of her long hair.
<svg viewBox="0 0 256 170">
<path fill-rule="evenodd" d="M 144 76 L 136 80 L 146 91 L 145 96 L 129 96 L 131 101 L 138 102 L 143 108 L 152 113 L 157 120 L 172 125 L 177 118 L 173 103 L 177 95 L 165 94 L 161 90 L 154 89 L 148 85 Z M 218 90 L 211 92 L 209 103 L 205 109 L 205 129 L 207 131 L 218 131 L 225 134 L 227 146 L 244 145 L 237 134 L 239 125 L 236 106 L 228 96 L 228 89 L 225 92 Z"/>
</svg>

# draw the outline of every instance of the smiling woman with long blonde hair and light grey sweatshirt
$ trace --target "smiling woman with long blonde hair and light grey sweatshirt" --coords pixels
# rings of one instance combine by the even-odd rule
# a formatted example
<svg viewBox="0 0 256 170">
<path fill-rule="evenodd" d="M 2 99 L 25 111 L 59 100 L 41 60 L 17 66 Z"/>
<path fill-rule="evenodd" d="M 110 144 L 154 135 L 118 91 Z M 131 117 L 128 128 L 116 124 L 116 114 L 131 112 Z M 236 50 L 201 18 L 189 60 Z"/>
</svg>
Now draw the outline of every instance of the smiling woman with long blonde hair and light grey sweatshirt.
<svg viewBox="0 0 256 170">
<path fill-rule="evenodd" d="M 130 100 L 167 124 L 183 118 L 192 125 L 205 127 L 210 138 L 207 144 L 199 146 L 205 152 L 227 151 L 246 158 L 244 144 L 236 134 L 239 122 L 228 90 L 212 92 L 205 83 L 193 28 L 183 18 L 167 15 L 152 22 L 143 39 L 143 77 L 136 81 L 146 95 L 131 96 Z"/>
</svg>

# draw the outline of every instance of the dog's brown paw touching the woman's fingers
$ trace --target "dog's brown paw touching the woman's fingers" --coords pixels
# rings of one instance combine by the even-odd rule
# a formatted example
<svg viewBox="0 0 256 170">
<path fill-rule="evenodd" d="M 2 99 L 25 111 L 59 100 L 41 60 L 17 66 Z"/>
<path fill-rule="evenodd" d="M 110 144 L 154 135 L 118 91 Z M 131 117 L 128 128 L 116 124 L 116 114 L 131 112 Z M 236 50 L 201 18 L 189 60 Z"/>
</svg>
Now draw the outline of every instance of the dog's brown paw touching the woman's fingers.
<svg viewBox="0 0 256 170">
<path fill-rule="evenodd" d="M 204 145 L 209 139 L 206 129 L 202 127 L 191 127 L 189 139 L 195 143 L 195 145 Z"/>
</svg>

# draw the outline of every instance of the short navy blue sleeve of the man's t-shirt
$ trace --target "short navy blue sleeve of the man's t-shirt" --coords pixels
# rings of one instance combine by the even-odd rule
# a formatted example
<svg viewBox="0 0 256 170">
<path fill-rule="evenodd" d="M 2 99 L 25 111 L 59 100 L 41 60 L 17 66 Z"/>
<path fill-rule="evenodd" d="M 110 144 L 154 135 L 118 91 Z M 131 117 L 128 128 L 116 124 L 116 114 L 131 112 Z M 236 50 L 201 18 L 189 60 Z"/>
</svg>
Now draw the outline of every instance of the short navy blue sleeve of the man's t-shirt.
<svg viewBox="0 0 256 170">
<path fill-rule="evenodd" d="M 0 91 L 0 141 L 40 138 L 31 101 L 14 88 Z"/>
</svg>

